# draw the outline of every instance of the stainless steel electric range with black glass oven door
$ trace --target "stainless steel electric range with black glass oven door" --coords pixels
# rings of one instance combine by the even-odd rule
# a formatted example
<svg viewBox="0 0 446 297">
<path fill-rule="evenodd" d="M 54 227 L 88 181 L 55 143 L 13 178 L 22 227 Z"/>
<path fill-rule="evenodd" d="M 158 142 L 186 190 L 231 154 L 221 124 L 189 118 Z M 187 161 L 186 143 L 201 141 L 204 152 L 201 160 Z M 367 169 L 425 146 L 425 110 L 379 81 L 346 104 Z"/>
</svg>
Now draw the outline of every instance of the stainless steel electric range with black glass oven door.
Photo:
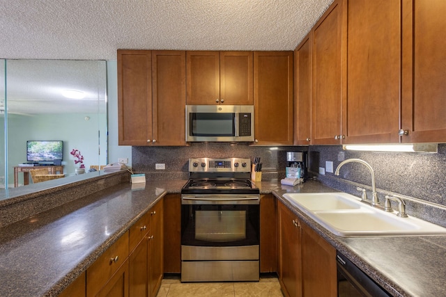
<svg viewBox="0 0 446 297">
<path fill-rule="evenodd" d="M 181 281 L 259 280 L 260 191 L 249 159 L 189 159 L 181 190 Z"/>
</svg>

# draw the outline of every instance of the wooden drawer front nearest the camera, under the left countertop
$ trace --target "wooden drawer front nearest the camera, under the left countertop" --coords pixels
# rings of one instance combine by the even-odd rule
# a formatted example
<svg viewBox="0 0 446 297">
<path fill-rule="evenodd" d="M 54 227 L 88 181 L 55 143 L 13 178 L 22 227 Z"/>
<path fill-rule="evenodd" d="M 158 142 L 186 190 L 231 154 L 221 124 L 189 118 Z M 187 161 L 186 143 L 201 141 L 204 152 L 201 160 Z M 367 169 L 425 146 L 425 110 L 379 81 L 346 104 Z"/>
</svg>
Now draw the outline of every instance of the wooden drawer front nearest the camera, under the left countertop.
<svg viewBox="0 0 446 297">
<path fill-rule="evenodd" d="M 86 296 L 95 296 L 128 257 L 129 232 L 125 232 L 86 270 Z"/>
</svg>

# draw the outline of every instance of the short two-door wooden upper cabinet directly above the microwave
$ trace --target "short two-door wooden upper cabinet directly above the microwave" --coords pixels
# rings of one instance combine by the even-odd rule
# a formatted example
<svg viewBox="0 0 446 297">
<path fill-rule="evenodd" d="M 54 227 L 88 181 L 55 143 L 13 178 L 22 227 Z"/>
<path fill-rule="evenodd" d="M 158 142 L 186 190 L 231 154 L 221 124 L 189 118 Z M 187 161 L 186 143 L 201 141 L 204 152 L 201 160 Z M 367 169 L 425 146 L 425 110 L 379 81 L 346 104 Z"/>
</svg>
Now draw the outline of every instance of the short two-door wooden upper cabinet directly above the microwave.
<svg viewBox="0 0 446 297">
<path fill-rule="evenodd" d="M 252 51 L 187 51 L 187 104 L 253 104 Z"/>
</svg>

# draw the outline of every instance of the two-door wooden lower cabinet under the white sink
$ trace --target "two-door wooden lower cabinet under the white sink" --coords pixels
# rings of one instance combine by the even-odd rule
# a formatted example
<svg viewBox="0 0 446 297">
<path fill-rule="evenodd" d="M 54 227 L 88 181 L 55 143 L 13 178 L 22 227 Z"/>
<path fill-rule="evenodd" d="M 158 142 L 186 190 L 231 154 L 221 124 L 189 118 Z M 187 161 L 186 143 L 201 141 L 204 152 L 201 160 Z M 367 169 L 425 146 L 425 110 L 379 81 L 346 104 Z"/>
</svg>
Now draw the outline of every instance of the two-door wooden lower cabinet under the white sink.
<svg viewBox="0 0 446 297">
<path fill-rule="evenodd" d="M 279 282 L 285 296 L 337 296 L 336 250 L 282 202 Z"/>
</svg>

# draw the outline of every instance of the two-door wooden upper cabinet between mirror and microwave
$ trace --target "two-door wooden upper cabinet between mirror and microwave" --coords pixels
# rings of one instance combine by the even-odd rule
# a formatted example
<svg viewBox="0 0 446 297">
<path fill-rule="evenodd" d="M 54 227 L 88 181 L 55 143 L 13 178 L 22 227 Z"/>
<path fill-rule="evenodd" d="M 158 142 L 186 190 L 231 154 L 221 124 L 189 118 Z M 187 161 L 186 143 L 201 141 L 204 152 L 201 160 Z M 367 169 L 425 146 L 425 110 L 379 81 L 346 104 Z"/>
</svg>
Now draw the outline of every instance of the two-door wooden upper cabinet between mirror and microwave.
<svg viewBox="0 0 446 297">
<path fill-rule="evenodd" d="M 118 50 L 119 145 L 186 145 L 185 51 Z"/>
</svg>

